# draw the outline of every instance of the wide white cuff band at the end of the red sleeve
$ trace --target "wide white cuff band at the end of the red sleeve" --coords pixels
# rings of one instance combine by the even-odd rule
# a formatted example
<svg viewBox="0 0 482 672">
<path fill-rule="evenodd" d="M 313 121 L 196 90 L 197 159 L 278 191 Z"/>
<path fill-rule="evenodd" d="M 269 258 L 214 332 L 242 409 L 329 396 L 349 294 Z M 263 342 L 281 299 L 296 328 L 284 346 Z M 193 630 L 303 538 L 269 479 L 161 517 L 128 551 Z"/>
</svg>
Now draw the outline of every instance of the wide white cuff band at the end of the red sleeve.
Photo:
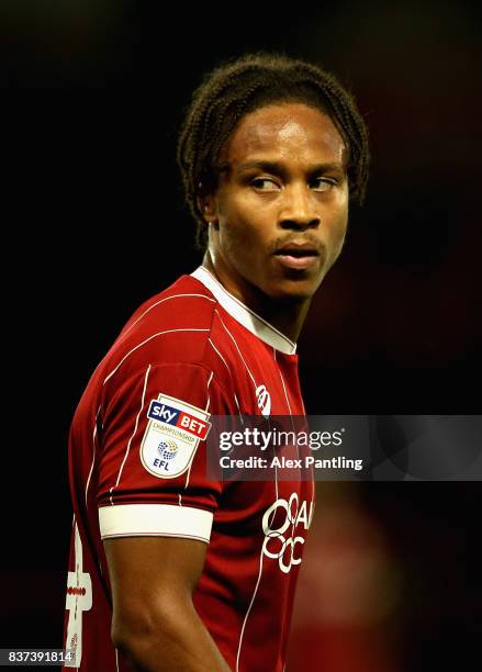
<svg viewBox="0 0 482 672">
<path fill-rule="evenodd" d="M 112 537 L 186 537 L 209 542 L 213 514 L 176 504 L 119 504 L 99 508 L 102 539 Z"/>
</svg>

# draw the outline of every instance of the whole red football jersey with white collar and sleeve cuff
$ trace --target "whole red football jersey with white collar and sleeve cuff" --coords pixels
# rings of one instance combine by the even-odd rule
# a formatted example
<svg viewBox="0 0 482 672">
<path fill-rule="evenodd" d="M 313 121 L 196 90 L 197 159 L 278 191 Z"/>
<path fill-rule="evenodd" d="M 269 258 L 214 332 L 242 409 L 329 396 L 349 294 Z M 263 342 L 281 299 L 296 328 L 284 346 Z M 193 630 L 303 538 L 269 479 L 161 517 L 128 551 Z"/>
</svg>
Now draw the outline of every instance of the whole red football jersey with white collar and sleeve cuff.
<svg viewBox="0 0 482 672">
<path fill-rule="evenodd" d="M 232 670 L 282 672 L 313 482 L 210 481 L 205 437 L 210 415 L 303 415 L 294 351 L 203 267 L 127 322 L 70 429 L 70 667 L 130 669 L 102 539 L 153 535 L 209 544 L 193 601 Z"/>
</svg>

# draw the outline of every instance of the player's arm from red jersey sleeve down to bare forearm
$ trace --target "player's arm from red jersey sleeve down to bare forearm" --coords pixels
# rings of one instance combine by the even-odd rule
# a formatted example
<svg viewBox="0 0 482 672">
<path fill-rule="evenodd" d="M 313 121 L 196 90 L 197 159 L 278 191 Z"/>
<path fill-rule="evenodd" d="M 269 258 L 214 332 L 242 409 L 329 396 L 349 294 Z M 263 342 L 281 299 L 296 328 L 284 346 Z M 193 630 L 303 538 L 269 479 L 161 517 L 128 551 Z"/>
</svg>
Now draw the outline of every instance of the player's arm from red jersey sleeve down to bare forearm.
<svg viewBox="0 0 482 672">
<path fill-rule="evenodd" d="M 224 392 L 188 363 L 109 383 L 96 477 L 113 642 L 136 670 L 225 670 L 192 602 L 223 489 L 206 472 L 204 428 L 226 413 Z"/>
</svg>

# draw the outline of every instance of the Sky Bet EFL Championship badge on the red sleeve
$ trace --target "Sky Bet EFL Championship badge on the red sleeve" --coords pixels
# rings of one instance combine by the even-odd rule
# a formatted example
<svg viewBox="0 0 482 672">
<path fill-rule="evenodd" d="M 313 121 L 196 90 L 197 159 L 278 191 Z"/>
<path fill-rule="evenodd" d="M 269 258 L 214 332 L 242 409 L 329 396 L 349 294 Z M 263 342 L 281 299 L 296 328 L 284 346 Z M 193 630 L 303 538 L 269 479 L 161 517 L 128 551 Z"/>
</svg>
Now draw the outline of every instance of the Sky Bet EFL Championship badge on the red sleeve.
<svg viewBox="0 0 482 672">
<path fill-rule="evenodd" d="M 210 414 L 173 396 L 159 394 L 147 411 L 141 460 L 159 479 L 175 479 L 191 466 L 199 441 L 211 428 Z"/>
</svg>

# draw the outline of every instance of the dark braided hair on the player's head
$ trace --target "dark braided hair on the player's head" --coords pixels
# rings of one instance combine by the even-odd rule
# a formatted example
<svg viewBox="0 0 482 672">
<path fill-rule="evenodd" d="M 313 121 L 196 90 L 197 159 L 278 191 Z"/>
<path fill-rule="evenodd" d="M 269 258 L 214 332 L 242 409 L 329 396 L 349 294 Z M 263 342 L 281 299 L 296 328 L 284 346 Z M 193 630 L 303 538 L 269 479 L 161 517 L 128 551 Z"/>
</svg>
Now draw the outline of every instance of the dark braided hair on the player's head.
<svg viewBox="0 0 482 672">
<path fill-rule="evenodd" d="M 201 249 L 208 242 L 208 225 L 199 197 L 217 187 L 225 143 L 246 114 L 282 102 L 301 102 L 332 119 L 349 150 L 350 199 L 362 203 L 370 159 L 368 133 L 351 94 L 313 64 L 279 54 L 246 54 L 205 75 L 179 134 L 177 160 Z"/>
</svg>

